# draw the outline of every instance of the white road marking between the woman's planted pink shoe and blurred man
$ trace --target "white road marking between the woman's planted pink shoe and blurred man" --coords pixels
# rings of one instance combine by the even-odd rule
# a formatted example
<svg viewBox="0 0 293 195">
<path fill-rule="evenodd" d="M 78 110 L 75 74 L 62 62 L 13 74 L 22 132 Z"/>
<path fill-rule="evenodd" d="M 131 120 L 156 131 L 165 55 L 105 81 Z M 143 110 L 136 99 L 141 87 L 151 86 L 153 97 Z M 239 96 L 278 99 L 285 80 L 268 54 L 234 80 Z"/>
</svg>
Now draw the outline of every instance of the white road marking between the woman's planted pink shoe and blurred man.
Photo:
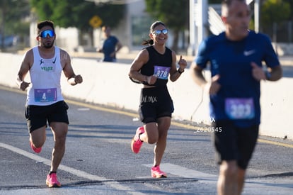
<svg viewBox="0 0 293 195">
<path fill-rule="evenodd" d="M 153 165 L 146 164 L 143 166 L 152 167 Z M 202 179 L 202 180 L 207 179 L 207 180 L 213 180 L 213 181 L 217 181 L 218 179 L 218 176 L 215 174 L 207 174 L 204 172 L 199 172 L 193 169 L 188 169 L 188 168 L 181 167 L 178 165 L 173 165 L 170 163 L 163 163 L 160 165 L 160 168 L 166 173 L 174 174 L 179 177 L 196 178 L 196 179 Z"/>
</svg>

